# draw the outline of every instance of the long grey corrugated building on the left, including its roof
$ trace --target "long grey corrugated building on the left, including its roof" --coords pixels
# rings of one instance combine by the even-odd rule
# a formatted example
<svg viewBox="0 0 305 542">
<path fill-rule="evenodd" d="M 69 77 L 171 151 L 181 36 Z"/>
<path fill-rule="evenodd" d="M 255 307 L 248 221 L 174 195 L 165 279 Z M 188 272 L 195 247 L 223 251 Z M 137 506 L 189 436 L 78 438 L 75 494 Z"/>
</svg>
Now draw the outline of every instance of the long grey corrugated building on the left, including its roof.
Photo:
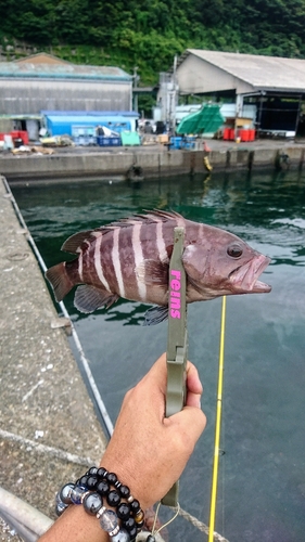
<svg viewBox="0 0 305 542">
<path fill-rule="evenodd" d="M 11 128 L 37 137 L 43 109 L 132 109 L 132 76 L 123 69 L 77 65 L 47 53 L 0 62 L 0 131 L 14 121 Z"/>
</svg>

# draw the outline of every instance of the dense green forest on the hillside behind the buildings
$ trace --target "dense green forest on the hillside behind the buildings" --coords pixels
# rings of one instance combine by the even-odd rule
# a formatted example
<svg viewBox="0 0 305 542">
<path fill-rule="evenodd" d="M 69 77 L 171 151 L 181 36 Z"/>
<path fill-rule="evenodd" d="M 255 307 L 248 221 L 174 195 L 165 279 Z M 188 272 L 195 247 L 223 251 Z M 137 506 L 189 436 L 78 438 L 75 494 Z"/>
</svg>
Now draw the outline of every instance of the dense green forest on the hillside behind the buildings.
<svg viewBox="0 0 305 542">
<path fill-rule="evenodd" d="M 305 57 L 305 0 L 1 0 L 0 43 L 157 82 L 187 48 Z M 14 54 L 12 54 L 12 51 Z"/>
</svg>

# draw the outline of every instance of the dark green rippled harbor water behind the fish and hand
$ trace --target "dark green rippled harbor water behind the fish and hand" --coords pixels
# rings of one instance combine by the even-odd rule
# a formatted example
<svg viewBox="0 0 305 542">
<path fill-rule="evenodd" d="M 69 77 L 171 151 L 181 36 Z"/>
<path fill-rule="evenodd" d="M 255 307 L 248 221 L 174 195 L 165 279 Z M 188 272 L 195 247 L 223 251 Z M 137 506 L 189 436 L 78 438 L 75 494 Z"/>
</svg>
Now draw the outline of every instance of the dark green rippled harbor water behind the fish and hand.
<svg viewBox="0 0 305 542">
<path fill-rule="evenodd" d="M 152 208 L 224 228 L 270 256 L 263 281 L 272 292 L 227 299 L 215 529 L 230 542 L 304 542 L 305 172 L 233 171 L 130 185 L 84 181 L 11 188 L 48 267 L 66 258 L 60 248 L 69 235 Z M 119 300 L 107 311 L 87 315 L 74 308 L 73 294 L 65 304 L 114 422 L 126 390 L 165 351 L 167 323 L 143 327 L 148 306 L 138 302 Z M 216 299 L 188 311 L 189 359 L 204 385 L 208 423 L 181 477 L 179 502 L 205 524 L 220 309 Z M 168 511 L 163 514 L 167 517 Z M 182 518 L 168 530 L 169 540 L 206 540 Z"/>
</svg>

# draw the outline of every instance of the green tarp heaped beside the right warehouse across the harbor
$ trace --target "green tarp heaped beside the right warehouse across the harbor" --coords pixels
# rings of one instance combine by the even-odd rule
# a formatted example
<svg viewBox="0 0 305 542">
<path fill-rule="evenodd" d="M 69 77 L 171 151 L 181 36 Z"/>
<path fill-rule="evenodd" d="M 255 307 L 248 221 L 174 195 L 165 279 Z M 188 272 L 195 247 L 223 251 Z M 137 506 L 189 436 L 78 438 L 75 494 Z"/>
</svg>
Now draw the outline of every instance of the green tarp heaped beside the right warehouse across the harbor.
<svg viewBox="0 0 305 542">
<path fill-rule="evenodd" d="M 176 132 L 186 134 L 215 133 L 223 126 L 225 119 L 220 114 L 220 106 L 205 104 L 200 111 L 182 118 Z"/>
</svg>

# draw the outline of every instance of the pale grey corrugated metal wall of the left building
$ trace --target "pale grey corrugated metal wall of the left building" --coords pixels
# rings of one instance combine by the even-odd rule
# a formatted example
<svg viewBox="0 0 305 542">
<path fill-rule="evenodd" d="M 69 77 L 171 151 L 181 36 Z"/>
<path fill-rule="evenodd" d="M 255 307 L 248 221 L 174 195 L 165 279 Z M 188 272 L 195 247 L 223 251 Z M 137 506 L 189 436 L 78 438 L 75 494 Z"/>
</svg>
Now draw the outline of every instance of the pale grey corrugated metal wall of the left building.
<svg viewBox="0 0 305 542">
<path fill-rule="evenodd" d="M 52 111 L 131 111 L 132 87 L 125 81 L 2 79 L 0 114 Z"/>
</svg>

